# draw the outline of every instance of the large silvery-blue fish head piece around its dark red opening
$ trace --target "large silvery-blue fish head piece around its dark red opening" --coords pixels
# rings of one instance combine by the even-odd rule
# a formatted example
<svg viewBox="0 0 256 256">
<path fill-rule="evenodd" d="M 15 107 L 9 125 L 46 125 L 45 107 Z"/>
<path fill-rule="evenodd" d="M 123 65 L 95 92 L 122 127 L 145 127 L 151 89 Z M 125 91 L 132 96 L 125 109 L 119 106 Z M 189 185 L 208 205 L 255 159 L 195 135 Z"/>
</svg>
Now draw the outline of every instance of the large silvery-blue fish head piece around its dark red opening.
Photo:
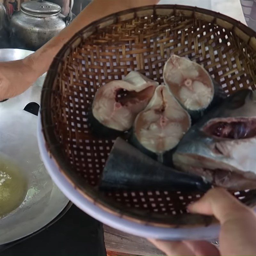
<svg viewBox="0 0 256 256">
<path fill-rule="evenodd" d="M 208 181 L 225 188 L 256 188 L 255 134 L 233 139 L 205 132 L 205 127 L 214 122 L 249 122 L 255 118 L 256 91 L 245 89 L 234 93 L 193 125 L 182 138 L 173 154 L 175 167 L 204 175 Z"/>
</svg>

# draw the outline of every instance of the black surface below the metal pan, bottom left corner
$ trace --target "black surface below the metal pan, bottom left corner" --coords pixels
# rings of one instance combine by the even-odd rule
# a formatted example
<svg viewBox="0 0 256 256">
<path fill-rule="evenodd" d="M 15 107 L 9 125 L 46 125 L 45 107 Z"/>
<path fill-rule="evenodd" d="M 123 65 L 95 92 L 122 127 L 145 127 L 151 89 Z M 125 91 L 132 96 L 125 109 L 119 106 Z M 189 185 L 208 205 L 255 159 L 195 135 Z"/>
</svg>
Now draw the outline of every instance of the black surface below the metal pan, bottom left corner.
<svg viewBox="0 0 256 256">
<path fill-rule="evenodd" d="M 63 215 L 63 214 L 62 214 Z M 0 246 L 2 256 L 106 255 L 102 224 L 74 204 L 50 227 L 39 233 Z"/>
</svg>

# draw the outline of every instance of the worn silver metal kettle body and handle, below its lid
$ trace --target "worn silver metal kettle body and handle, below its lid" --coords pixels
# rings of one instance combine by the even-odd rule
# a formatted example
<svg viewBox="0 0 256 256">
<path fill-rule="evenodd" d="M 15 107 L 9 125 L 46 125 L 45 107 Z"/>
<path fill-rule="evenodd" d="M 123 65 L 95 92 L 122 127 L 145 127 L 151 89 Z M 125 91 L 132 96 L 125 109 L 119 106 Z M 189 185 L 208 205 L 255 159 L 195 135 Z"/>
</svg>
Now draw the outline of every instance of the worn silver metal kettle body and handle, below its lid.
<svg viewBox="0 0 256 256">
<path fill-rule="evenodd" d="M 28 1 L 20 5 L 20 11 L 12 17 L 0 4 L 0 23 L 11 37 L 30 50 L 37 50 L 53 36 L 65 28 L 71 20 L 74 0 L 70 0 L 70 9 L 65 17 L 60 13 L 60 6 L 44 0 Z"/>
</svg>

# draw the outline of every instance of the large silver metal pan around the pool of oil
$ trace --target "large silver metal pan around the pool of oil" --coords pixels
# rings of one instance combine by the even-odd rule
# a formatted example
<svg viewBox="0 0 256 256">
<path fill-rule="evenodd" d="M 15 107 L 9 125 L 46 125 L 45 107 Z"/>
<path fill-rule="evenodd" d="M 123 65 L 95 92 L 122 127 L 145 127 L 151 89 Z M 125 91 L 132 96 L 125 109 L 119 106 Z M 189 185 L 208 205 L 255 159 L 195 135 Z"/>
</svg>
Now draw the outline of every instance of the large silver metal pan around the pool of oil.
<svg viewBox="0 0 256 256">
<path fill-rule="evenodd" d="M 21 49 L 0 49 L 0 61 L 19 60 L 31 53 L 32 51 Z M 43 228 L 69 202 L 52 182 L 37 145 L 36 110 L 40 103 L 44 78 L 45 74 L 26 92 L 0 102 L 0 161 L 5 157 L 12 159 L 28 183 L 28 192 L 23 203 L 0 219 L 0 245 Z"/>
</svg>

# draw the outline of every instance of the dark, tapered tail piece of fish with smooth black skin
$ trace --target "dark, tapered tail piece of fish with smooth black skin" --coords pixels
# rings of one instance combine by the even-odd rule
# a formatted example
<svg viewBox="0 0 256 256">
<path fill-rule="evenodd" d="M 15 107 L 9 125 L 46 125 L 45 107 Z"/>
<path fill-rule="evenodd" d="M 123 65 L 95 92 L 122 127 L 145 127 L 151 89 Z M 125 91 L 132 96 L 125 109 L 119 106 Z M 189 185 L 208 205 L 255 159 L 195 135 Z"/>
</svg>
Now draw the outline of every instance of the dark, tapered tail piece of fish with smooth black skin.
<svg viewBox="0 0 256 256">
<path fill-rule="evenodd" d="M 108 156 L 100 190 L 207 191 L 212 187 L 202 177 L 176 171 L 144 155 L 118 137 Z"/>
</svg>

